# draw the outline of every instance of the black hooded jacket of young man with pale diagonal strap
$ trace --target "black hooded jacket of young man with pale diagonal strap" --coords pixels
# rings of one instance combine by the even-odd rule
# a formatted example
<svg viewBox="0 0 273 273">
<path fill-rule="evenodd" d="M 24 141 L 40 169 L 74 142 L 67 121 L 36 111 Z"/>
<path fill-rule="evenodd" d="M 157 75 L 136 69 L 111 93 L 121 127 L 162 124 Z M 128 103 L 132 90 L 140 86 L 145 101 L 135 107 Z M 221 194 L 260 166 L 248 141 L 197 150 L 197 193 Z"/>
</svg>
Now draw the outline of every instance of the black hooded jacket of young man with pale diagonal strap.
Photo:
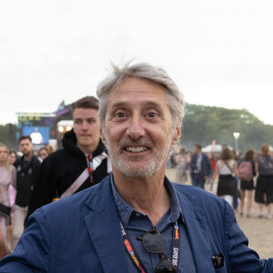
<svg viewBox="0 0 273 273">
<path fill-rule="evenodd" d="M 28 207 L 28 216 L 36 208 L 52 202 L 56 197 L 60 197 L 87 167 L 85 154 L 76 147 L 76 134 L 73 130 L 66 132 L 62 142 L 64 148 L 46 157 L 42 163 Z M 106 152 L 106 147 L 100 140 L 92 156 L 96 157 L 103 152 Z M 108 160 L 105 158 L 93 172 L 94 184 L 99 183 L 108 175 Z M 88 177 L 76 192 L 91 186 L 90 177 Z"/>
</svg>

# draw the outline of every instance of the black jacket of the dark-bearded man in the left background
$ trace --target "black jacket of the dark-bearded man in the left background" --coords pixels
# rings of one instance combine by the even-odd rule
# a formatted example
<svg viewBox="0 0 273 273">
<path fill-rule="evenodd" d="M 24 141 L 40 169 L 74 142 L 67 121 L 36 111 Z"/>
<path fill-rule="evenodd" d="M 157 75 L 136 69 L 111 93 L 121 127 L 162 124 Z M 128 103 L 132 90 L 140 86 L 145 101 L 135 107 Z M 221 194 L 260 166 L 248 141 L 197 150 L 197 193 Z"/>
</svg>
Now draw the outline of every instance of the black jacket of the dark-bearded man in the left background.
<svg viewBox="0 0 273 273">
<path fill-rule="evenodd" d="M 41 166 L 41 161 L 38 157 L 31 157 L 27 166 L 25 166 L 24 160 L 25 157 L 23 156 L 15 161 L 15 168 L 17 170 L 17 194 L 15 204 L 20 207 L 26 207 L 29 205 L 30 197 L 35 186 L 35 180 Z"/>
</svg>

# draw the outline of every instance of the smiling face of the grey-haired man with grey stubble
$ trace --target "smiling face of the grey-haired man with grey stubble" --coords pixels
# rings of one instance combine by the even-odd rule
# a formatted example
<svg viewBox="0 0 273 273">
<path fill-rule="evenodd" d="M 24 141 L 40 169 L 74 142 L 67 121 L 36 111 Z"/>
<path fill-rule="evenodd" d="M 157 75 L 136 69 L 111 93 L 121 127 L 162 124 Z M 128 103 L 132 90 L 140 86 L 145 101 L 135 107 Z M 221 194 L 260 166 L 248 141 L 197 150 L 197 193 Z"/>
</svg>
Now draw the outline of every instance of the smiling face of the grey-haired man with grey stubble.
<svg viewBox="0 0 273 273">
<path fill-rule="evenodd" d="M 126 78 L 111 92 L 105 126 L 102 139 L 113 171 L 128 177 L 165 171 L 170 146 L 180 136 L 180 125 L 172 129 L 162 86 L 136 77 Z"/>
</svg>

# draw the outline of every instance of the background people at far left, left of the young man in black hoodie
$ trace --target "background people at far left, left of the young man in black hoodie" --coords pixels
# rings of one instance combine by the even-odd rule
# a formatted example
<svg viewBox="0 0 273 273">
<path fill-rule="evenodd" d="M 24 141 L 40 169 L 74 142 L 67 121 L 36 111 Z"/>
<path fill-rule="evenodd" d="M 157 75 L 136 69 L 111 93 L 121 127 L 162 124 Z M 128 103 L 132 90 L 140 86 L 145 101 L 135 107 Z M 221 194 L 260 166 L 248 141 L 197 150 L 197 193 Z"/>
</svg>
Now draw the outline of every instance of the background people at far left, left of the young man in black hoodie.
<svg viewBox="0 0 273 273">
<path fill-rule="evenodd" d="M 15 151 L 0 144 L 0 203 L 5 206 L 0 211 L 1 257 L 12 252 L 24 231 L 26 210 L 22 207 L 27 207 L 31 194 L 27 187 L 33 187 L 41 162 L 49 155 L 48 147 L 34 151 L 30 136 L 20 137 L 19 147 Z"/>
</svg>

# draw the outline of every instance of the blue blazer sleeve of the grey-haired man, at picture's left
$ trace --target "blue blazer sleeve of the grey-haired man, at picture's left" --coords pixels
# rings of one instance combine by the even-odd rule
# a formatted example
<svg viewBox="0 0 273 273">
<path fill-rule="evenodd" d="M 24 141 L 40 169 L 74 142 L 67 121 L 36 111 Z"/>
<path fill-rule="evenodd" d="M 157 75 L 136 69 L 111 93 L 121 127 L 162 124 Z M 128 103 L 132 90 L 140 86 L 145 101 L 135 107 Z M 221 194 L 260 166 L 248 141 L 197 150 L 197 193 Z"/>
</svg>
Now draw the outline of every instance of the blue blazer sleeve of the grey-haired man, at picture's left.
<svg viewBox="0 0 273 273">
<path fill-rule="evenodd" d="M 0 261 L 1 273 L 49 272 L 50 233 L 43 211 L 37 210 L 27 224 L 13 254 Z"/>
</svg>

